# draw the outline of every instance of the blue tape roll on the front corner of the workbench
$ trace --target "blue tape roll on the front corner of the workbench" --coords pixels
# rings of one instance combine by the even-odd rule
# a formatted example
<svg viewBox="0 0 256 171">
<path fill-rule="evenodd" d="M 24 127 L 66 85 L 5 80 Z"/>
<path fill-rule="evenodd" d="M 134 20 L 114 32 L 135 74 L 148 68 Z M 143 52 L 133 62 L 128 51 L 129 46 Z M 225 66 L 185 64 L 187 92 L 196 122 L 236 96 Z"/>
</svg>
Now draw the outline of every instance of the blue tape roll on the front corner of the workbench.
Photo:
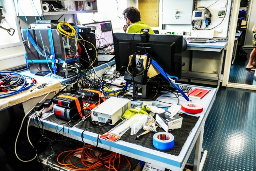
<svg viewBox="0 0 256 171">
<path fill-rule="evenodd" d="M 153 145 L 159 150 L 170 150 L 174 146 L 174 136 L 169 132 L 158 132 L 153 136 Z"/>
</svg>

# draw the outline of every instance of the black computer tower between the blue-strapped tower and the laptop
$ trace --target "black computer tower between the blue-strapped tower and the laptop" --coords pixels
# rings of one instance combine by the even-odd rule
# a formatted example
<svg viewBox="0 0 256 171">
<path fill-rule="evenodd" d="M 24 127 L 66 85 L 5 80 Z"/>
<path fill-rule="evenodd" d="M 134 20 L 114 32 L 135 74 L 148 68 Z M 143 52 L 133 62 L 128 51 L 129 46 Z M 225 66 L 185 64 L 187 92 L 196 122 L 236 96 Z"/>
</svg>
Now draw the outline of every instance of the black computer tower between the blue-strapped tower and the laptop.
<svg viewBox="0 0 256 171">
<path fill-rule="evenodd" d="M 81 27 L 76 27 L 78 28 L 78 38 L 79 39 L 83 39 L 86 41 L 82 41 L 79 40 L 79 55 L 80 55 L 80 62 L 81 64 L 85 67 L 88 68 L 91 64 L 89 62 L 89 58 L 88 55 L 91 59 L 91 63 L 94 61 L 93 66 L 97 66 L 98 65 L 98 60 L 95 60 L 96 57 L 96 53 L 97 51 L 95 51 L 96 48 L 96 38 L 95 38 L 95 30 L 96 27 L 91 27 L 91 26 L 81 26 Z M 92 44 L 94 45 L 94 47 L 92 46 Z M 88 55 L 85 52 L 85 49 L 88 53 Z"/>
</svg>

